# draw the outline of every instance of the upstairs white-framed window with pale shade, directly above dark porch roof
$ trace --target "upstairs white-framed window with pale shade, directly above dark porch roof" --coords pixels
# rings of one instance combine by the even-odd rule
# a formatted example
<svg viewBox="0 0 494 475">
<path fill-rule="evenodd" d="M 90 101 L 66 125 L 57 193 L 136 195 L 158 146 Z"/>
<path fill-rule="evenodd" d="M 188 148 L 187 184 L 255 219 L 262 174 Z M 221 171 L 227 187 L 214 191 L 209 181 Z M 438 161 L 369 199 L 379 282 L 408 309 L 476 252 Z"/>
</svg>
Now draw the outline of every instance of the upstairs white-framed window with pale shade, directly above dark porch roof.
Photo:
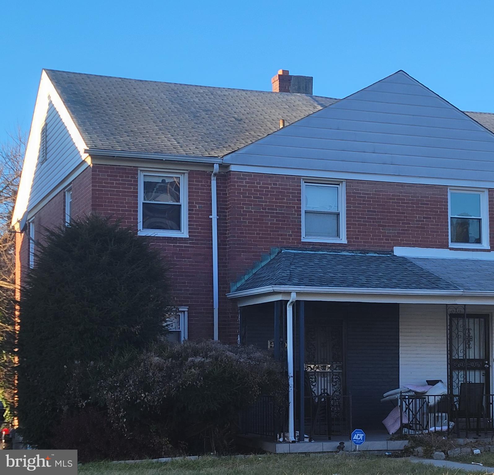
<svg viewBox="0 0 494 475">
<path fill-rule="evenodd" d="M 346 242 L 345 182 L 302 180 L 302 241 Z"/>
</svg>

